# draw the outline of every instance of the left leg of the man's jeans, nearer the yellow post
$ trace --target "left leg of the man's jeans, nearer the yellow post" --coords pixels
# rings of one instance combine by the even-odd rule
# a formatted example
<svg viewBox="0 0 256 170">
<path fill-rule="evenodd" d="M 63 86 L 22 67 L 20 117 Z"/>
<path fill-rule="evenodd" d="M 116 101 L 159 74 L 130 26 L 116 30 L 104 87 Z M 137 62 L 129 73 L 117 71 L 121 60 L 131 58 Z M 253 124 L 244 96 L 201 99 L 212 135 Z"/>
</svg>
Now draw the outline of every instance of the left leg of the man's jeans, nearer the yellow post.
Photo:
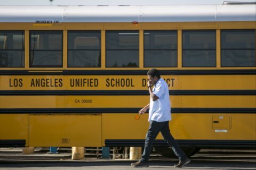
<svg viewBox="0 0 256 170">
<path fill-rule="evenodd" d="M 162 126 L 162 122 L 150 121 L 149 129 L 146 135 L 145 148 L 141 156 L 141 161 L 148 161 L 151 149 L 153 147 L 153 142 L 156 139 L 157 134 L 162 129 Z"/>
</svg>

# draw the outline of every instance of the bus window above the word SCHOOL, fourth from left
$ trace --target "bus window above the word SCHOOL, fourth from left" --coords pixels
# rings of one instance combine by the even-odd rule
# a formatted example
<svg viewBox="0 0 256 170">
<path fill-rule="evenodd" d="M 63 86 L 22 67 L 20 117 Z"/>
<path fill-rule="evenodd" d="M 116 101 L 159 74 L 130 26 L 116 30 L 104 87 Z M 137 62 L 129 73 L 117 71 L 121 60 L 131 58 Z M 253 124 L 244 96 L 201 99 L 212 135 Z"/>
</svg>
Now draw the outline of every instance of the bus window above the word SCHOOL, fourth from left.
<svg viewBox="0 0 256 170">
<path fill-rule="evenodd" d="M 139 67 L 139 31 L 106 31 L 106 66 Z"/>
</svg>

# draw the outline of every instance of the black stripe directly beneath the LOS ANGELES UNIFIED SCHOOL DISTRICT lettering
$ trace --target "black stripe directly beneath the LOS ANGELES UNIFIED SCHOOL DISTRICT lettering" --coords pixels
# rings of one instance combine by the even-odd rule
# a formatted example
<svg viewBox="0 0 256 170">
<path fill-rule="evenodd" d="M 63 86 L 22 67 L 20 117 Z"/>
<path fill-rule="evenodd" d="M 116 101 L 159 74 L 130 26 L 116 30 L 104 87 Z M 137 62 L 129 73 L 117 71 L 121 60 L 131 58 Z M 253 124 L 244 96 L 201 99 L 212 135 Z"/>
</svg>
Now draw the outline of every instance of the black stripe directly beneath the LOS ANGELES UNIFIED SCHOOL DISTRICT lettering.
<svg viewBox="0 0 256 170">
<path fill-rule="evenodd" d="M 256 95 L 256 90 L 169 90 L 170 95 L 236 95 L 251 96 Z M 0 96 L 148 96 L 148 90 L 0 90 Z"/>
</svg>

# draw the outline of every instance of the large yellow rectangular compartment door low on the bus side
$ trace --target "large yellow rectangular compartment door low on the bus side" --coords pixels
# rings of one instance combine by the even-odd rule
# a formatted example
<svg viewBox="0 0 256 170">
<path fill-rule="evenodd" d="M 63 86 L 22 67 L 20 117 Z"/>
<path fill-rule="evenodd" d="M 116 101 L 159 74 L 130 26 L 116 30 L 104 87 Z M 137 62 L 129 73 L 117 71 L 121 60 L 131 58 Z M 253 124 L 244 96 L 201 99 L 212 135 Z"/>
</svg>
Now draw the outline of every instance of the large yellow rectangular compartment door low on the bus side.
<svg viewBox="0 0 256 170">
<path fill-rule="evenodd" d="M 30 114 L 29 145 L 100 147 L 101 114 Z"/>
</svg>

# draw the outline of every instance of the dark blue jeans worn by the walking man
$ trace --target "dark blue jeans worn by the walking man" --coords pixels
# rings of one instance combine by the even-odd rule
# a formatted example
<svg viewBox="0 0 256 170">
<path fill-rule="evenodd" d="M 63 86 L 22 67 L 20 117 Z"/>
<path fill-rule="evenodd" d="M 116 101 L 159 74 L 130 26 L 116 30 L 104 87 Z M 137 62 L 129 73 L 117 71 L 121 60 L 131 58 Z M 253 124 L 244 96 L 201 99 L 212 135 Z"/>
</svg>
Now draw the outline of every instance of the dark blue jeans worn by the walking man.
<svg viewBox="0 0 256 170">
<path fill-rule="evenodd" d="M 149 129 L 146 135 L 145 148 L 143 154 L 141 156 L 141 161 L 148 161 L 149 155 L 153 146 L 153 142 L 156 139 L 158 133 L 161 132 L 164 140 L 168 142 L 170 147 L 172 148 L 174 154 L 180 159 L 185 160 L 187 156 L 180 149 L 179 145 L 172 137 L 170 129 L 169 129 L 169 121 L 166 122 L 156 122 L 150 121 Z"/>
</svg>

